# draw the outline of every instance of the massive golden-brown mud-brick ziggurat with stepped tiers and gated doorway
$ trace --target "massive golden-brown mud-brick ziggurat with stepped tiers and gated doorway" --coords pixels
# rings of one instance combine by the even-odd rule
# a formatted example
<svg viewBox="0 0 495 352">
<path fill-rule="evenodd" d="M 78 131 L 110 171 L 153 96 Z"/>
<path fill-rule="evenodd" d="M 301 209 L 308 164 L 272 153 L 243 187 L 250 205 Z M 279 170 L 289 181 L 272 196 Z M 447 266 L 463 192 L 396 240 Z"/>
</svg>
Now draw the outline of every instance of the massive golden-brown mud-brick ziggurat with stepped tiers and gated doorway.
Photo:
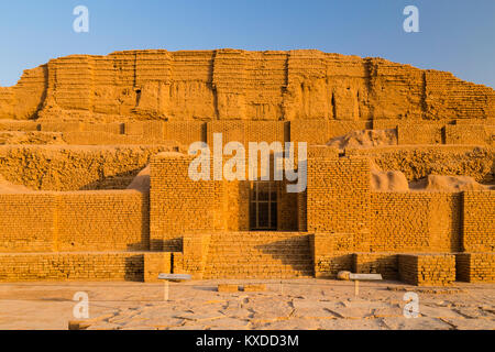
<svg viewBox="0 0 495 352">
<path fill-rule="evenodd" d="M 307 189 L 191 180 L 213 133 L 307 142 Z M 382 58 L 56 58 L 0 88 L 0 280 L 495 282 L 494 143 L 492 88 Z"/>
</svg>

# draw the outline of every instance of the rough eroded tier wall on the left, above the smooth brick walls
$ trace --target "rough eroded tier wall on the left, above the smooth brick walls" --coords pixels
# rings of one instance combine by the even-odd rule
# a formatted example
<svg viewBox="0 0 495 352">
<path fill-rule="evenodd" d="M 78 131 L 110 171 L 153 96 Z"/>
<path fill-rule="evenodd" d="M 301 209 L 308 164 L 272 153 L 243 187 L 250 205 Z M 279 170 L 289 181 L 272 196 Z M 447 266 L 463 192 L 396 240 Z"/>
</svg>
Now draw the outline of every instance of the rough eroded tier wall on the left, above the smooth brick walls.
<svg viewBox="0 0 495 352">
<path fill-rule="evenodd" d="M 172 145 L 0 145 L 0 174 L 35 190 L 125 189 Z"/>
</svg>

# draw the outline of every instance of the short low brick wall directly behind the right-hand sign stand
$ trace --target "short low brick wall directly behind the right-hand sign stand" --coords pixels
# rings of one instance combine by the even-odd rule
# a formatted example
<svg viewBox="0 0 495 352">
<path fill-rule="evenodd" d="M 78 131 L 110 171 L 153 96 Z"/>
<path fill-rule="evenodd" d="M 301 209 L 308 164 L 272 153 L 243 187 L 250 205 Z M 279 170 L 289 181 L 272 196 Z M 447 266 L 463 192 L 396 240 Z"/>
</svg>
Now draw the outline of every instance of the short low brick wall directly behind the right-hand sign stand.
<svg viewBox="0 0 495 352">
<path fill-rule="evenodd" d="M 382 274 L 384 279 L 398 279 L 398 257 L 392 253 L 354 253 L 352 267 L 359 274 Z"/>
</svg>

